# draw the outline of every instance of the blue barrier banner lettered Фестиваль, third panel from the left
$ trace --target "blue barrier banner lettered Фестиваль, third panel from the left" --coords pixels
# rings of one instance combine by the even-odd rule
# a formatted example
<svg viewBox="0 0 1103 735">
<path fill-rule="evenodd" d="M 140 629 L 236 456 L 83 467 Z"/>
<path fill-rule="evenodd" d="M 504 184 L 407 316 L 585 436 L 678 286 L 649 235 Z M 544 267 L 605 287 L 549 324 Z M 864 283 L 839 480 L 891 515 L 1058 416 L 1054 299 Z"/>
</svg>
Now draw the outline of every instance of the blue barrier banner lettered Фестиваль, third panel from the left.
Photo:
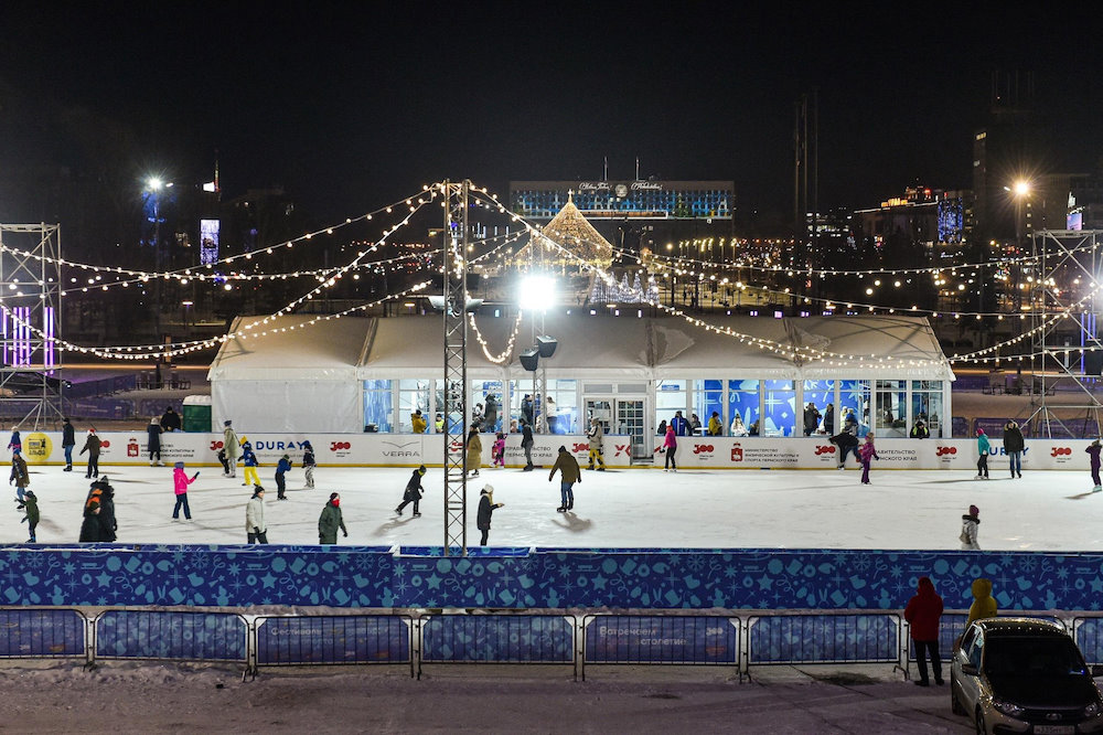
<svg viewBox="0 0 1103 735">
<path fill-rule="evenodd" d="M 393 616 L 263 618 L 257 663 L 409 663 L 409 621 Z"/>
</svg>

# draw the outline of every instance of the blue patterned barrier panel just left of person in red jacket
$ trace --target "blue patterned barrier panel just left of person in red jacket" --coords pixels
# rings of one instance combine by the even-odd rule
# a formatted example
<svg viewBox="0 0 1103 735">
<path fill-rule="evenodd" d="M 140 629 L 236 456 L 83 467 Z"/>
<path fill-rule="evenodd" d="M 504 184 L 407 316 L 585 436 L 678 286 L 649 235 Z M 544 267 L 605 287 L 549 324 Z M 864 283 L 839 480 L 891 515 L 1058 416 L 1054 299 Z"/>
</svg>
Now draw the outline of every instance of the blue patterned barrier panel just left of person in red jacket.
<svg viewBox="0 0 1103 735">
<path fill-rule="evenodd" d="M 751 663 L 895 662 L 895 615 L 794 615 L 751 618 Z"/>
</svg>

